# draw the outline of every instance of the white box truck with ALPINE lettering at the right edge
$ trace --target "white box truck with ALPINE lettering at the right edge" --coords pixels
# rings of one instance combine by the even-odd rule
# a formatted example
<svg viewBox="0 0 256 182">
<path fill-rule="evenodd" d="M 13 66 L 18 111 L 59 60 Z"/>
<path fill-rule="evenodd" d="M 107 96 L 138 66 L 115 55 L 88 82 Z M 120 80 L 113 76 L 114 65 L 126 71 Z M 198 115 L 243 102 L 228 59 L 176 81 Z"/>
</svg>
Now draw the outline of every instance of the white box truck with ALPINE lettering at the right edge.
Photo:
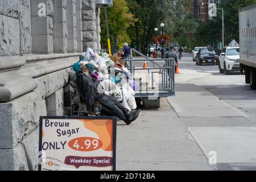
<svg viewBox="0 0 256 182">
<path fill-rule="evenodd" d="M 240 71 L 246 84 L 256 89 L 256 4 L 239 12 Z"/>
</svg>

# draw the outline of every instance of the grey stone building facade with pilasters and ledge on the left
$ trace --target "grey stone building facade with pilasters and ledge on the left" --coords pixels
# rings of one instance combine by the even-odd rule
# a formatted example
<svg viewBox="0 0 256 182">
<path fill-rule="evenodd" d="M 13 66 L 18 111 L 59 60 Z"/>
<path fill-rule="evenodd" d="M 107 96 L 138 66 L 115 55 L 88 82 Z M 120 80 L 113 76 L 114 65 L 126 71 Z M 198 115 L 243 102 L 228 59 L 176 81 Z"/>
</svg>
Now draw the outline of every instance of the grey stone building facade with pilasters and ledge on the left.
<svg viewBox="0 0 256 182">
<path fill-rule="evenodd" d="M 0 1 L 0 170 L 38 169 L 39 117 L 68 113 L 68 72 L 100 49 L 99 15 L 96 0 Z"/>
</svg>

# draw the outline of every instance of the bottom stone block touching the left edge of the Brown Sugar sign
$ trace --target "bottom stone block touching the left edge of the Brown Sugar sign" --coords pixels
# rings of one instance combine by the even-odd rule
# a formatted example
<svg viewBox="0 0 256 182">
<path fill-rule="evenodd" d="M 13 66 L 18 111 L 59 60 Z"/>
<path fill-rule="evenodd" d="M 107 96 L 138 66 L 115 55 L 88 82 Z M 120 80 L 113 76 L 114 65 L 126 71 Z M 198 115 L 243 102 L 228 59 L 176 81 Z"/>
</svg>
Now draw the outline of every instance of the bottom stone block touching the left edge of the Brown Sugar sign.
<svg viewBox="0 0 256 182">
<path fill-rule="evenodd" d="M 27 163 L 30 170 L 38 170 L 39 154 L 39 127 L 22 140 L 22 145 L 27 156 Z"/>
</svg>

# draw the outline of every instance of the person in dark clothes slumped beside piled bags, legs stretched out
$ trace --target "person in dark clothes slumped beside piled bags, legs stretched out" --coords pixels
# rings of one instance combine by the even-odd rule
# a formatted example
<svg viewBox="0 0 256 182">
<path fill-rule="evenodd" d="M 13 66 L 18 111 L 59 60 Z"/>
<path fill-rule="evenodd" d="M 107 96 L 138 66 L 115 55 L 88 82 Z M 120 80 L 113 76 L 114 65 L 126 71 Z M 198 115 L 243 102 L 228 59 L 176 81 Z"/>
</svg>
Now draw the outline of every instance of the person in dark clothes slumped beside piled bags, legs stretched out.
<svg viewBox="0 0 256 182">
<path fill-rule="evenodd" d="M 100 82 L 93 78 L 93 65 L 81 65 L 80 72 L 76 76 L 77 89 L 81 94 L 81 99 L 86 103 L 86 109 L 90 115 L 94 115 L 93 104 L 94 101 L 100 102 L 102 106 L 109 111 L 110 114 L 123 120 L 127 125 L 138 118 L 140 109 L 129 111 L 122 104 L 120 104 L 114 97 L 110 97 L 105 93 L 101 93 L 98 89 L 101 88 Z"/>
</svg>

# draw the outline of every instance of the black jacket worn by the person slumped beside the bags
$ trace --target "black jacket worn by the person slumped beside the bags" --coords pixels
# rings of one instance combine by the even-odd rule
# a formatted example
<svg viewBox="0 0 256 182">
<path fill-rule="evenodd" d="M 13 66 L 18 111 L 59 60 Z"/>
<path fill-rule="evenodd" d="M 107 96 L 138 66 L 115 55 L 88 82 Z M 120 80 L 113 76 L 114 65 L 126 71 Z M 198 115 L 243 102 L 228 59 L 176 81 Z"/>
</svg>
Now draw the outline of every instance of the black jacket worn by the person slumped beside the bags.
<svg viewBox="0 0 256 182">
<path fill-rule="evenodd" d="M 88 111 L 93 110 L 94 101 L 101 96 L 101 94 L 97 92 L 99 83 L 96 78 L 89 78 L 81 72 L 77 73 L 77 89 L 79 90 L 82 101 L 86 103 Z"/>
</svg>

